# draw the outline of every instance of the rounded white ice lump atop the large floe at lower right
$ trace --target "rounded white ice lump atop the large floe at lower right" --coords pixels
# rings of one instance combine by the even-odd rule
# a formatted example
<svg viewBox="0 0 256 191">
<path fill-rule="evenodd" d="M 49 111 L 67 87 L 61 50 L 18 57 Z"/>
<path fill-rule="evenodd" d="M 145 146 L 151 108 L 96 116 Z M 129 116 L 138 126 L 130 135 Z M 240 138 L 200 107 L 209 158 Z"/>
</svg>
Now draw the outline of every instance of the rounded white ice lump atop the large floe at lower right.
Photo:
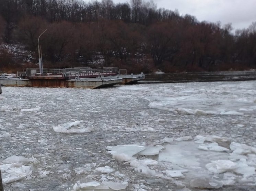
<svg viewBox="0 0 256 191">
<path fill-rule="evenodd" d="M 237 164 L 230 160 L 217 160 L 205 166 L 212 173 L 224 173 L 237 168 Z"/>
</svg>

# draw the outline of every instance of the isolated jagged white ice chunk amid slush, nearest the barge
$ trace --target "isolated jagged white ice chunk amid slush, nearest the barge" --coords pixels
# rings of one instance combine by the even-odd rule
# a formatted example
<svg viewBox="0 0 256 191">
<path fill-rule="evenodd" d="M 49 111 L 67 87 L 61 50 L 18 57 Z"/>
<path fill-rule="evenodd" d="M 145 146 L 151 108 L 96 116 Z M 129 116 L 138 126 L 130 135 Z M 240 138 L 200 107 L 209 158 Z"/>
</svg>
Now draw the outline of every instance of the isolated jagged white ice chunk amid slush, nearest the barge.
<svg viewBox="0 0 256 191">
<path fill-rule="evenodd" d="M 57 133 L 90 133 L 92 131 L 91 128 L 85 127 L 82 124 L 84 121 L 74 121 L 70 123 L 65 123 L 63 125 L 58 125 L 53 127 L 53 130 Z M 76 127 L 76 128 L 71 128 Z"/>
</svg>

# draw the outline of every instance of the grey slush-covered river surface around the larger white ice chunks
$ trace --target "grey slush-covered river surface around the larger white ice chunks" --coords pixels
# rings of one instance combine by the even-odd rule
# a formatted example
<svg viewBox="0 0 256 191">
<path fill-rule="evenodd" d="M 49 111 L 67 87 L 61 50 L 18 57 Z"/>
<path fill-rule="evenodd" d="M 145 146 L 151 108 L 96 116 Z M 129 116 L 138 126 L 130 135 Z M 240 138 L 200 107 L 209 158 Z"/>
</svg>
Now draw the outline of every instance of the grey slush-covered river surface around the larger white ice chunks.
<svg viewBox="0 0 256 191">
<path fill-rule="evenodd" d="M 193 146 L 196 136 L 220 136 L 229 144 L 256 147 L 255 81 L 118 85 L 95 90 L 2 87 L 2 91 L 0 164 L 12 155 L 33 156 L 38 161 L 31 164 L 30 176 L 8 183 L 6 191 L 73 190 L 75 183 L 90 181 L 125 182 L 126 190 L 136 191 L 185 191 L 184 185 L 199 190 L 187 183 L 191 172 L 196 172 L 190 167 L 205 166 L 211 159 L 228 160 L 229 151 L 205 151 L 208 161 L 199 160 L 204 154 Z M 184 136 L 191 136 L 191 144 L 177 142 Z M 164 141 L 170 139 L 175 152 L 180 148 L 188 148 L 189 154 L 198 152 L 183 165 L 189 166 L 185 178 L 173 177 L 168 171 L 181 165 L 174 162 L 177 158 L 165 157 L 174 149 Z M 152 170 L 144 172 L 113 159 L 107 146 L 117 145 L 158 145 L 165 150 L 159 155 L 138 156 Z M 249 165 L 256 167 L 256 153 L 250 154 Z M 207 169 L 202 173 L 212 174 Z M 242 178 L 217 190 L 256 190 L 255 175 L 248 176 L 248 182 Z"/>
</svg>

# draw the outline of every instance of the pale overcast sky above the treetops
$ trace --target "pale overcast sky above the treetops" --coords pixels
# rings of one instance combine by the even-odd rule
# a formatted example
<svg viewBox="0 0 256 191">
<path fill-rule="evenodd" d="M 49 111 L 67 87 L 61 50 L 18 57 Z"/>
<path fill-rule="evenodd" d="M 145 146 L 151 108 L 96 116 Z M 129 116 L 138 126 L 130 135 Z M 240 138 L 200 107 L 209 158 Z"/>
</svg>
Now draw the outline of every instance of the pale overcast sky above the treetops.
<svg viewBox="0 0 256 191">
<path fill-rule="evenodd" d="M 101 0 L 98 0 L 101 1 Z M 148 1 L 148 0 L 145 0 Z M 256 0 L 153 0 L 158 8 L 178 9 L 181 15 L 196 16 L 199 21 L 232 23 L 234 29 L 248 28 L 256 22 Z M 130 0 L 113 0 L 124 3 Z"/>
</svg>

